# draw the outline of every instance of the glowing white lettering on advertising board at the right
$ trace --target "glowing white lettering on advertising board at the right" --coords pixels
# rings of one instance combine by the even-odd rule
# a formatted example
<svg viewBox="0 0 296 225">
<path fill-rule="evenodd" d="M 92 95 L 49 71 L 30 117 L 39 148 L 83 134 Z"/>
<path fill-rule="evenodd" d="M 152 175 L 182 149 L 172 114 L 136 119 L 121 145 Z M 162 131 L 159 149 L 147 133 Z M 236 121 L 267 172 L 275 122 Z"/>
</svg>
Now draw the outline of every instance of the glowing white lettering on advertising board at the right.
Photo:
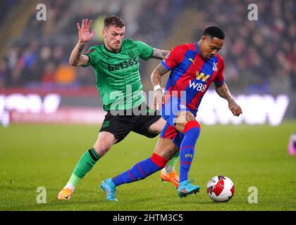
<svg viewBox="0 0 296 225">
<path fill-rule="evenodd" d="M 277 126 L 283 120 L 289 105 L 289 97 L 279 95 L 239 95 L 235 101 L 242 108 L 242 115 L 234 117 L 228 109 L 228 103 L 217 96 L 215 91 L 208 91 L 199 106 L 197 120 L 204 124 L 269 124 Z"/>
</svg>

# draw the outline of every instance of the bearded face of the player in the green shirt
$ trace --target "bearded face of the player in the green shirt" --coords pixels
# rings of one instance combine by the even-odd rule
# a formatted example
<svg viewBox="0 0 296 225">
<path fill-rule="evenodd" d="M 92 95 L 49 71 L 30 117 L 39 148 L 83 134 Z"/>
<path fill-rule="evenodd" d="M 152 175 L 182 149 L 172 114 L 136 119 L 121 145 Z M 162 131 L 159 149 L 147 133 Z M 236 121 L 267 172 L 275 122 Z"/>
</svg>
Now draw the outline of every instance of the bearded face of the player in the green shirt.
<svg viewBox="0 0 296 225">
<path fill-rule="evenodd" d="M 104 44 L 107 49 L 117 52 L 121 49 L 125 27 L 110 26 L 102 30 Z"/>
</svg>

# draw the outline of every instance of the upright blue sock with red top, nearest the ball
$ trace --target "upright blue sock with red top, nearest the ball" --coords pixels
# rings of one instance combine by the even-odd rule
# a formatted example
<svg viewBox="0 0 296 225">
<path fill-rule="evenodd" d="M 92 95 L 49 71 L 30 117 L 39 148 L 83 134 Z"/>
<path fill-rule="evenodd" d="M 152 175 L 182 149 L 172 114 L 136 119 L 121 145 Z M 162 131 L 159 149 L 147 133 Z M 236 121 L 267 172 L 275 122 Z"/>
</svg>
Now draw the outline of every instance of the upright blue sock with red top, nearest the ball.
<svg viewBox="0 0 296 225">
<path fill-rule="evenodd" d="M 200 127 L 197 121 L 187 122 L 184 129 L 184 139 L 180 146 L 180 183 L 188 179 L 199 133 Z"/>
</svg>

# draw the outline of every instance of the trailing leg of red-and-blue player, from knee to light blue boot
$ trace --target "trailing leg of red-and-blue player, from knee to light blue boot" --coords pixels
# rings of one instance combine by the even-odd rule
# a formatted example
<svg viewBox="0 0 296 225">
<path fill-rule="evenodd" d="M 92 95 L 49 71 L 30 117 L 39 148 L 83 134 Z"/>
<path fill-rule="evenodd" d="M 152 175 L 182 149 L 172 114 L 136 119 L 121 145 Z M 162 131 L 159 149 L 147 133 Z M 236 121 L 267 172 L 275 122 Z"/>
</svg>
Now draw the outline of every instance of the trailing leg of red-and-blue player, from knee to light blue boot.
<svg viewBox="0 0 296 225">
<path fill-rule="evenodd" d="M 150 158 L 137 162 L 122 174 L 101 182 L 100 187 L 106 192 L 106 200 L 117 200 L 115 195 L 116 186 L 140 181 L 164 168 L 168 160 L 170 160 L 177 151 L 178 148 L 175 148 L 173 140 L 159 139 L 154 153 Z"/>
</svg>

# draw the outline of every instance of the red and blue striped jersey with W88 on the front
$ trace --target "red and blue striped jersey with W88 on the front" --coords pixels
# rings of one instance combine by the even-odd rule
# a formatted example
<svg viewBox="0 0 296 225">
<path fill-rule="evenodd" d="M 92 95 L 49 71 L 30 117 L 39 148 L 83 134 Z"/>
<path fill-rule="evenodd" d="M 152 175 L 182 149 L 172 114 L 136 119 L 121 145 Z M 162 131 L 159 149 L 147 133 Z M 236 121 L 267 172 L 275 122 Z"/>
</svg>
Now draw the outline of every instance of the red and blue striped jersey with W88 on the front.
<svg viewBox="0 0 296 225">
<path fill-rule="evenodd" d="M 224 84 L 223 58 L 218 54 L 210 59 L 202 58 L 197 43 L 176 46 L 161 64 L 171 70 L 165 98 L 176 96 L 175 92 L 180 98 L 181 91 L 186 91 L 186 106 L 195 115 L 211 82 L 217 86 Z"/>
</svg>

